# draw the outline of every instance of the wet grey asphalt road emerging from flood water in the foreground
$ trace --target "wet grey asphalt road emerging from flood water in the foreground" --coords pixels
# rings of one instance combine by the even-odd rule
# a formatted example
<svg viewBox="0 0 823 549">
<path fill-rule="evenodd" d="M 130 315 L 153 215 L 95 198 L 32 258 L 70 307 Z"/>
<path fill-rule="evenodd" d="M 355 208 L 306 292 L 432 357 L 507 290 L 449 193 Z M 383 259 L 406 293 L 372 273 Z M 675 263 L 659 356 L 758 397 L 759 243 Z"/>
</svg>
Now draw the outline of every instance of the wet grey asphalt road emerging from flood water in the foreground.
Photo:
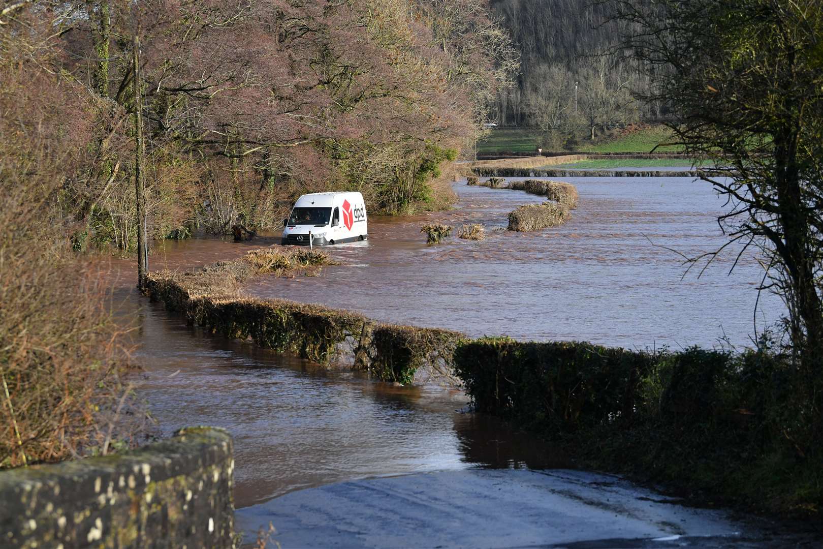
<svg viewBox="0 0 823 549">
<path fill-rule="evenodd" d="M 239 509 L 253 542 L 291 547 L 819 547 L 620 477 L 570 470 L 416 473 L 340 482 Z"/>
</svg>

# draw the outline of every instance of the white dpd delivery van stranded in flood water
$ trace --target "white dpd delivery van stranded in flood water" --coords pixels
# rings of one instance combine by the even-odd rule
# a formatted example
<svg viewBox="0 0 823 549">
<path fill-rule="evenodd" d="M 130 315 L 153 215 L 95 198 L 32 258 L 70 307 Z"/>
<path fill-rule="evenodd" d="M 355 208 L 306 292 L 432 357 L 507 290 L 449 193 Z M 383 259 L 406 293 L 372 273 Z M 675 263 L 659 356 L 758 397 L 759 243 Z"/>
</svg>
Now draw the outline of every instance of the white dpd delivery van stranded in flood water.
<svg viewBox="0 0 823 549">
<path fill-rule="evenodd" d="M 281 244 L 323 246 L 369 238 L 360 193 L 304 194 L 284 222 Z"/>
</svg>

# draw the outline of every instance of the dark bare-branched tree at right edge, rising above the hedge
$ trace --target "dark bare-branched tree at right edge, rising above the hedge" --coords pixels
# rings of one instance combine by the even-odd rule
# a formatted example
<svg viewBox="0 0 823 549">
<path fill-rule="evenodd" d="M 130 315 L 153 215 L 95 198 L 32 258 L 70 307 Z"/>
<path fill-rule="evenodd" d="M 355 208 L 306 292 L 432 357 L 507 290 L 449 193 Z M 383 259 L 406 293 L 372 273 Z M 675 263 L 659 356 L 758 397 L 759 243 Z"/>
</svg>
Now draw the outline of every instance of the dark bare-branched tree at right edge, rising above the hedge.
<svg viewBox="0 0 823 549">
<path fill-rule="evenodd" d="M 788 307 L 801 423 L 823 423 L 823 11 L 816 0 L 612 2 L 643 29 L 647 100 L 671 105 L 686 151 L 728 198 L 730 242 L 758 251 L 764 289 Z M 718 252 L 709 254 L 709 259 Z M 738 256 L 739 257 L 739 256 Z M 787 436 L 791 437 L 787 428 Z"/>
</svg>

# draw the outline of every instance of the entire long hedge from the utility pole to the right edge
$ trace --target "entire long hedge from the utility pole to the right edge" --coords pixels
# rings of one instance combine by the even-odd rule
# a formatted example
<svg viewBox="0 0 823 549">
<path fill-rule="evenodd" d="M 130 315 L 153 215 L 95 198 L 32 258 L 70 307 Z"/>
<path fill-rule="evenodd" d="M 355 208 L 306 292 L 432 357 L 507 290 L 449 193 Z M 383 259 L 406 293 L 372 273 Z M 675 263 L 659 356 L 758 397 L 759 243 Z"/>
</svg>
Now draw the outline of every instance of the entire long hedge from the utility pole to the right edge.
<svg viewBox="0 0 823 549">
<path fill-rule="evenodd" d="M 321 364 L 348 358 L 383 381 L 411 383 L 420 368 L 457 375 L 479 412 L 555 440 L 588 468 L 758 509 L 813 515 L 823 505 L 820 410 L 791 357 L 768 346 L 740 354 L 471 340 L 251 299 L 231 284 L 221 293 L 215 281 L 229 272 L 220 268 L 152 273 L 148 293 L 212 333 Z"/>
</svg>

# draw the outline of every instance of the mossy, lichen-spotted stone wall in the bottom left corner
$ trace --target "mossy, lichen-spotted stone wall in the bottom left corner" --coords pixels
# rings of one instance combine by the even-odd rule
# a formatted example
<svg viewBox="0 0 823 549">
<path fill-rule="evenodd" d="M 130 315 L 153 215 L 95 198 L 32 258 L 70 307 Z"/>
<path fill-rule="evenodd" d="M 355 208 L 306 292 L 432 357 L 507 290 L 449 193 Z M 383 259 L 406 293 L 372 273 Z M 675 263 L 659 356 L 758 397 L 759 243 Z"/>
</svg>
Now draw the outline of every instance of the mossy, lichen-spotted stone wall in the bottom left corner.
<svg viewBox="0 0 823 549">
<path fill-rule="evenodd" d="M 0 472 L 0 547 L 232 547 L 231 438 L 196 427 L 142 449 Z"/>
</svg>

